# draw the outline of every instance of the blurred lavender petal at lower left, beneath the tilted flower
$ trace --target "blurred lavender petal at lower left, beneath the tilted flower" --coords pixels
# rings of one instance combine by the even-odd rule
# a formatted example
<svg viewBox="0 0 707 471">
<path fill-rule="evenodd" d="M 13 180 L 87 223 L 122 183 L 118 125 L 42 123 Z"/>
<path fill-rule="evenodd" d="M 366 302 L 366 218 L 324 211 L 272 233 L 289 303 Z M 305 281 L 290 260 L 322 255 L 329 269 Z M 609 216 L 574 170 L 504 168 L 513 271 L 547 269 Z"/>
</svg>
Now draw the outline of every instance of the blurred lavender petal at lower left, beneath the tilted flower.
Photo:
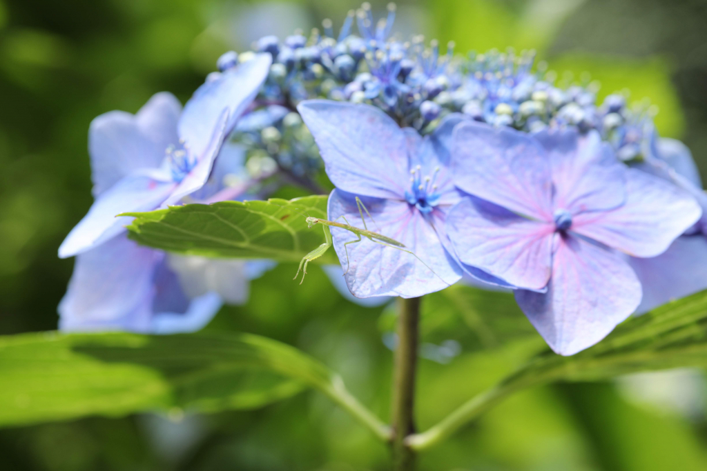
<svg viewBox="0 0 707 471">
<path fill-rule="evenodd" d="M 59 328 L 146 332 L 153 273 L 162 257 L 125 235 L 80 254 L 59 303 Z"/>
</svg>

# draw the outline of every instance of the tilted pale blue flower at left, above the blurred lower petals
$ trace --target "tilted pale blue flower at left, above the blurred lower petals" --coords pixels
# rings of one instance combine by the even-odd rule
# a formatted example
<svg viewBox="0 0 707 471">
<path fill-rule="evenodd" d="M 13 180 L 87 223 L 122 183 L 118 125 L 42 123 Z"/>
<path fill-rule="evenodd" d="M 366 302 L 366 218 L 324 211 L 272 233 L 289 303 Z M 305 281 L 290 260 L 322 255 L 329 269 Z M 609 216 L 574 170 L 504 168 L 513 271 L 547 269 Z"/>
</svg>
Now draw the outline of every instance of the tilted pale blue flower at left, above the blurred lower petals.
<svg viewBox="0 0 707 471">
<path fill-rule="evenodd" d="M 112 239 L 129 218 L 180 201 L 206 183 L 221 144 L 267 77 L 269 54 L 211 75 L 184 111 L 158 93 L 136 115 L 109 112 L 93 120 L 89 150 L 95 202 L 71 230 L 62 258 Z"/>
</svg>

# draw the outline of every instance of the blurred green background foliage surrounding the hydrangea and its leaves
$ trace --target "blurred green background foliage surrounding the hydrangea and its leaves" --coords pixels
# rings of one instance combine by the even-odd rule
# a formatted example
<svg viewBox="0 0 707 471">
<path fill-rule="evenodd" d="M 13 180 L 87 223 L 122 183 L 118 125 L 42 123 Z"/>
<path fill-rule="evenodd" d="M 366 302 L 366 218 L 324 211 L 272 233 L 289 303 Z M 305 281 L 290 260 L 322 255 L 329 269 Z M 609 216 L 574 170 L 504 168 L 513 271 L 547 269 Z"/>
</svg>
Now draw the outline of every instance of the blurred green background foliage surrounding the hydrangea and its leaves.
<svg viewBox="0 0 707 471">
<path fill-rule="evenodd" d="M 372 3 L 374 11 L 385 8 Z M 0 334 L 57 325 L 73 266 L 57 258 L 57 247 L 91 203 L 86 140 L 93 117 L 112 109 L 136 112 L 161 90 L 184 102 L 222 52 L 247 49 L 262 35 L 306 32 L 323 18 L 338 29 L 357 6 L 344 0 L 0 0 Z M 600 97 L 624 88 L 631 100 L 650 97 L 660 107 L 662 136 L 683 139 L 707 175 L 706 2 L 417 0 L 400 1 L 398 13 L 395 30 L 402 36 L 455 40 L 457 52 L 532 47 L 561 81 L 584 81 L 590 73 L 602 83 Z M 207 328 L 296 345 L 340 371 L 363 402 L 387 417 L 390 311 L 346 302 L 318 268 L 300 287 L 291 280 L 295 270 L 279 266 L 257 280 L 247 305 L 224 308 Z M 518 313 L 504 294 L 485 299 L 467 299 L 466 316 L 447 309 L 442 298 L 426 302 L 422 428 L 481 390 L 503 362 L 502 355 L 480 362 L 474 345 L 495 341 L 484 334 L 485 322 Z M 525 335 L 535 335 L 527 327 Z M 422 455 L 420 469 L 706 470 L 706 392 L 703 374 L 691 370 L 534 388 Z M 0 430 L 3 470 L 386 466 L 385 446 L 317 393 L 259 410 L 93 417 Z"/>
</svg>

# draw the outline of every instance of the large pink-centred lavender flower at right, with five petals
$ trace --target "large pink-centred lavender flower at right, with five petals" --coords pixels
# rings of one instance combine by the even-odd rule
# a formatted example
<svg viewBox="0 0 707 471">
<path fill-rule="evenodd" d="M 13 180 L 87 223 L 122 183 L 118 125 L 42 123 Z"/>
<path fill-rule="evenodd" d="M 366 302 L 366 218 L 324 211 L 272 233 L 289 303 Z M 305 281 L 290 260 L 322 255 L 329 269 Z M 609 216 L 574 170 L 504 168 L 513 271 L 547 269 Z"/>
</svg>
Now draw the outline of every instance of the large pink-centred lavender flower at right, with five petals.
<svg viewBox="0 0 707 471">
<path fill-rule="evenodd" d="M 457 256 L 517 287 L 560 354 L 595 344 L 641 302 L 619 252 L 657 256 L 701 215 L 689 194 L 626 168 L 595 131 L 528 136 L 465 122 L 452 155 L 455 183 L 473 195 L 448 213 Z"/>
</svg>

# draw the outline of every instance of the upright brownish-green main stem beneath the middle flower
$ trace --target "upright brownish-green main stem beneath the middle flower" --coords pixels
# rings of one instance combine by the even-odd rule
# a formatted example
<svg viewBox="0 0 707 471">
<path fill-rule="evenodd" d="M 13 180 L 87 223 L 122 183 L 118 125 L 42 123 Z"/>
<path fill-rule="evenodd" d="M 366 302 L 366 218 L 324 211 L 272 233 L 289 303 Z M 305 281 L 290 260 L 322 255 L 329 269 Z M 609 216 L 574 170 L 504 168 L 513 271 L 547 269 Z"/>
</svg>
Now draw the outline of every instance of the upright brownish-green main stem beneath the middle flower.
<svg viewBox="0 0 707 471">
<path fill-rule="evenodd" d="M 415 370 L 421 298 L 398 299 L 397 347 L 392 390 L 393 470 L 414 469 L 415 453 L 406 438 L 414 434 Z"/>
</svg>

